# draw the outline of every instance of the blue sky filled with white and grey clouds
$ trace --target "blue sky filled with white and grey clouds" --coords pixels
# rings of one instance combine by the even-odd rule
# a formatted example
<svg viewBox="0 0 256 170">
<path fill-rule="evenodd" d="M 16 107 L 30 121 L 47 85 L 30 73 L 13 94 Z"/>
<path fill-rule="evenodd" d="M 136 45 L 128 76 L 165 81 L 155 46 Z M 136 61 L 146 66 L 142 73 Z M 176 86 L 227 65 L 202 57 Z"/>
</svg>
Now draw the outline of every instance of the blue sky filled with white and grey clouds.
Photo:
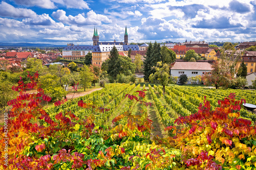
<svg viewBox="0 0 256 170">
<path fill-rule="evenodd" d="M 256 40 L 255 0 L 4 0 L 0 42 Z"/>
</svg>

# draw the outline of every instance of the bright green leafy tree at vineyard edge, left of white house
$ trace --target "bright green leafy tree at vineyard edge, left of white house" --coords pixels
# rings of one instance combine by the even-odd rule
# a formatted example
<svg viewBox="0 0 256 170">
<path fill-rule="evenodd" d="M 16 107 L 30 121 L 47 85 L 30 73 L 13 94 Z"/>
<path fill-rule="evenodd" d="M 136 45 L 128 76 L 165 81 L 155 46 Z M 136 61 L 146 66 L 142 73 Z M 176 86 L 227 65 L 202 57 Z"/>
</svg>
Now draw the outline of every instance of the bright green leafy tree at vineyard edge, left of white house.
<svg viewBox="0 0 256 170">
<path fill-rule="evenodd" d="M 160 83 L 163 86 L 163 93 L 165 93 L 165 86 L 168 85 L 169 80 L 169 66 L 166 63 L 162 63 L 162 61 L 157 62 L 156 67 L 154 67 L 156 72 L 154 74 L 150 75 L 150 78 L 154 80 L 157 80 L 158 83 Z M 150 80 L 151 80 L 150 79 Z"/>
</svg>

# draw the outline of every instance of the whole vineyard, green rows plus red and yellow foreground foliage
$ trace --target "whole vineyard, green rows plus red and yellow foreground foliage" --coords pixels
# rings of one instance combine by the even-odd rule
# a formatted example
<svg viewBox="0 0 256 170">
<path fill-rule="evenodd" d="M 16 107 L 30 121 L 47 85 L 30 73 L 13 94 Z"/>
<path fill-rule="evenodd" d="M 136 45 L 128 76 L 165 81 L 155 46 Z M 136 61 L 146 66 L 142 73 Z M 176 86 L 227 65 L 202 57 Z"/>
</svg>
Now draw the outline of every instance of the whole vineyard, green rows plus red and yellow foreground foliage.
<svg viewBox="0 0 256 170">
<path fill-rule="evenodd" d="M 255 91 L 117 83 L 44 110 L 30 79 L 8 102 L 0 169 L 256 168 L 256 117 L 242 106 Z"/>
</svg>

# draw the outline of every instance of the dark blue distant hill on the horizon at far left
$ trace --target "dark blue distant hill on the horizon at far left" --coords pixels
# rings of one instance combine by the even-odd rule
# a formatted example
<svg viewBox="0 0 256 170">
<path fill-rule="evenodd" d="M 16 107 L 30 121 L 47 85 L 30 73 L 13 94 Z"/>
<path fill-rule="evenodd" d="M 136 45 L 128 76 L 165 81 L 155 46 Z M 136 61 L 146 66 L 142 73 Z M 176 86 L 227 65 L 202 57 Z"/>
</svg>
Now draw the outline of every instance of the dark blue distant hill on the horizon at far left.
<svg viewBox="0 0 256 170">
<path fill-rule="evenodd" d="M 54 45 L 54 44 L 28 43 L 28 42 L 18 42 L 18 43 L 0 42 L 0 47 L 65 47 L 65 46 L 67 45 Z"/>
</svg>

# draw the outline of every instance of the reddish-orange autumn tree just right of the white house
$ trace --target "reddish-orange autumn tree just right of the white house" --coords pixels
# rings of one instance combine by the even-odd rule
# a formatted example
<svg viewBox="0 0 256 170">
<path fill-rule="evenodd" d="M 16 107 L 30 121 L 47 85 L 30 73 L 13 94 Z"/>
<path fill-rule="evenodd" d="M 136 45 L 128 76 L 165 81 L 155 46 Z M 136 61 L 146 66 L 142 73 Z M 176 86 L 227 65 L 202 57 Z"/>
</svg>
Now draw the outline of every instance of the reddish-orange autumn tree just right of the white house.
<svg viewBox="0 0 256 170">
<path fill-rule="evenodd" d="M 210 72 L 205 72 L 202 76 L 202 81 L 204 85 L 214 85 L 216 89 L 219 87 L 228 87 L 231 83 L 231 75 L 225 65 L 222 65 L 218 61 L 215 61 L 213 65 L 211 65 L 212 70 Z"/>
</svg>

